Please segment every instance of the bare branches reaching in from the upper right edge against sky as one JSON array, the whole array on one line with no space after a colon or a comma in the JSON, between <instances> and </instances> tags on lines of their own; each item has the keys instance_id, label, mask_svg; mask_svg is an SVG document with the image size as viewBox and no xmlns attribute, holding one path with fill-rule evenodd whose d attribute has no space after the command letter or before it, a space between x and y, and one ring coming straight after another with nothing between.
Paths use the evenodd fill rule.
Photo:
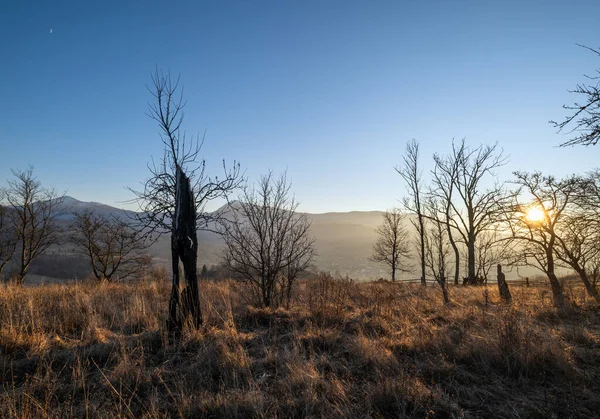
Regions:
<instances>
[{"instance_id":1,"label":"bare branches reaching in from the upper right edge against sky","mask_svg":"<svg viewBox=\"0 0 600 419\"><path fill-rule=\"evenodd\" d=\"M600 56L600 50L580 45ZM583 96L584 102L575 102L573 105L563 105L563 108L572 111L562 122L550 121L558 131L572 126L569 134L577 132L574 138L561 144L561 147L571 145L596 145L600 140L600 69L595 76L585 76L588 83L578 84L571 93Z\"/></svg>"}]
</instances>

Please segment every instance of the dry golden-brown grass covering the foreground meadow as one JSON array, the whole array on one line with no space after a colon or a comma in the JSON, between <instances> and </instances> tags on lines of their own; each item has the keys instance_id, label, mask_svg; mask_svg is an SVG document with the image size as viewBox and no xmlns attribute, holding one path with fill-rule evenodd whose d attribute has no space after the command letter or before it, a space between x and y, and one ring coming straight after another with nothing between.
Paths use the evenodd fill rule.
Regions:
<instances>
[{"instance_id":1,"label":"dry golden-brown grass covering the foreground meadow","mask_svg":"<svg viewBox=\"0 0 600 419\"><path fill-rule=\"evenodd\" d=\"M304 282L290 310L201 286L167 345L169 284L0 288L0 417L599 417L600 310L583 290ZM486 302L487 300L487 302Z\"/></svg>"}]
</instances>

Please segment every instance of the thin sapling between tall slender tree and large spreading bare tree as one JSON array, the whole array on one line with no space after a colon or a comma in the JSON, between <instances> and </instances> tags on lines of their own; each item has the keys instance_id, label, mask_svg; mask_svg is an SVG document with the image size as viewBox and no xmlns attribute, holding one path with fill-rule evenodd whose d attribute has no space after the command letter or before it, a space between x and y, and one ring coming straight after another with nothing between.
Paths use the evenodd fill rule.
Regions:
<instances>
[{"instance_id":1,"label":"thin sapling between tall slender tree and large spreading bare tree","mask_svg":"<svg viewBox=\"0 0 600 419\"><path fill-rule=\"evenodd\" d=\"M444 303L450 303L447 289L450 247L446 229L446 204L439 198L429 197L427 215L430 228L425 235L425 263L429 273L442 289Z\"/></svg>"}]
</instances>

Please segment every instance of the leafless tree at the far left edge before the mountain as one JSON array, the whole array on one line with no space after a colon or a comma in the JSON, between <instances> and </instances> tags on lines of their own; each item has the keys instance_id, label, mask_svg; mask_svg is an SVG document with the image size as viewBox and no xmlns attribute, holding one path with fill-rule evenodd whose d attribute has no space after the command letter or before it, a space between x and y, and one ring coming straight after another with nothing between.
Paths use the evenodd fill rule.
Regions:
<instances>
[{"instance_id":1,"label":"leafless tree at the far left edge before the mountain","mask_svg":"<svg viewBox=\"0 0 600 419\"><path fill-rule=\"evenodd\" d=\"M51 245L57 243L64 195L46 189L33 174L33 167L25 171L12 170L14 179L5 189L10 221L17 231L18 266L14 276L22 284L31 263Z\"/></svg>"}]
</instances>

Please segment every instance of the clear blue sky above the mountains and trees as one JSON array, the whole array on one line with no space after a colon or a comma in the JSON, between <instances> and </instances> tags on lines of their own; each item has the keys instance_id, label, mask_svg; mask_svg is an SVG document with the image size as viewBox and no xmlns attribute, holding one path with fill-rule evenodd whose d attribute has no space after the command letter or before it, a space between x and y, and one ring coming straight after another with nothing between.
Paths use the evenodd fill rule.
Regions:
<instances>
[{"instance_id":1,"label":"clear blue sky above the mountains and trees","mask_svg":"<svg viewBox=\"0 0 600 419\"><path fill-rule=\"evenodd\" d=\"M174 3L174 4L172 4ZM34 165L46 186L121 203L159 158L146 90L181 74L188 133L210 172L288 171L301 210L383 210L452 138L499 145L499 171L598 166L557 148L567 92L600 60L598 1L0 2L0 183ZM52 29L52 32L50 30Z\"/></svg>"}]
</instances>

